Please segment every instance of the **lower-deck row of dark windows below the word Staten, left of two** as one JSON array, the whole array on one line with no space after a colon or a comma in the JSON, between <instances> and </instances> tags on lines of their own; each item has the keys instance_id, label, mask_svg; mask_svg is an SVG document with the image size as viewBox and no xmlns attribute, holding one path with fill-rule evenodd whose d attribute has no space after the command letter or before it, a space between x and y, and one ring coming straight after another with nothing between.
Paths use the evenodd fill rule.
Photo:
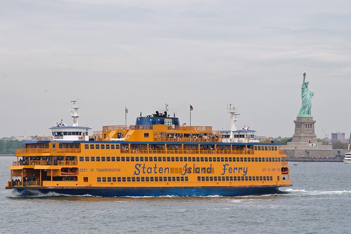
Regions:
<instances>
[{"instance_id":1,"label":"lower-deck row of dark windows below the word Staten, left of two","mask_svg":"<svg viewBox=\"0 0 351 234\"><path fill-rule=\"evenodd\" d=\"M97 177L98 182L171 182L189 181L188 176Z\"/></svg>"}]
</instances>

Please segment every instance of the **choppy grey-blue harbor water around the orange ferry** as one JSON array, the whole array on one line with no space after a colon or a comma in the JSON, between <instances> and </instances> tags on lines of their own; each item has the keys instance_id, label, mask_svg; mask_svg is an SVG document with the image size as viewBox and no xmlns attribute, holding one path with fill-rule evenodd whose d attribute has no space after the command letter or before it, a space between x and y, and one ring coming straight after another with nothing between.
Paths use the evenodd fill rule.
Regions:
<instances>
[{"instance_id":1,"label":"choppy grey-blue harbor water around the orange ferry","mask_svg":"<svg viewBox=\"0 0 351 234\"><path fill-rule=\"evenodd\" d=\"M0 233L351 233L351 165L298 162L293 187L239 197L19 197L5 190L14 157L0 157Z\"/></svg>"}]
</instances>

